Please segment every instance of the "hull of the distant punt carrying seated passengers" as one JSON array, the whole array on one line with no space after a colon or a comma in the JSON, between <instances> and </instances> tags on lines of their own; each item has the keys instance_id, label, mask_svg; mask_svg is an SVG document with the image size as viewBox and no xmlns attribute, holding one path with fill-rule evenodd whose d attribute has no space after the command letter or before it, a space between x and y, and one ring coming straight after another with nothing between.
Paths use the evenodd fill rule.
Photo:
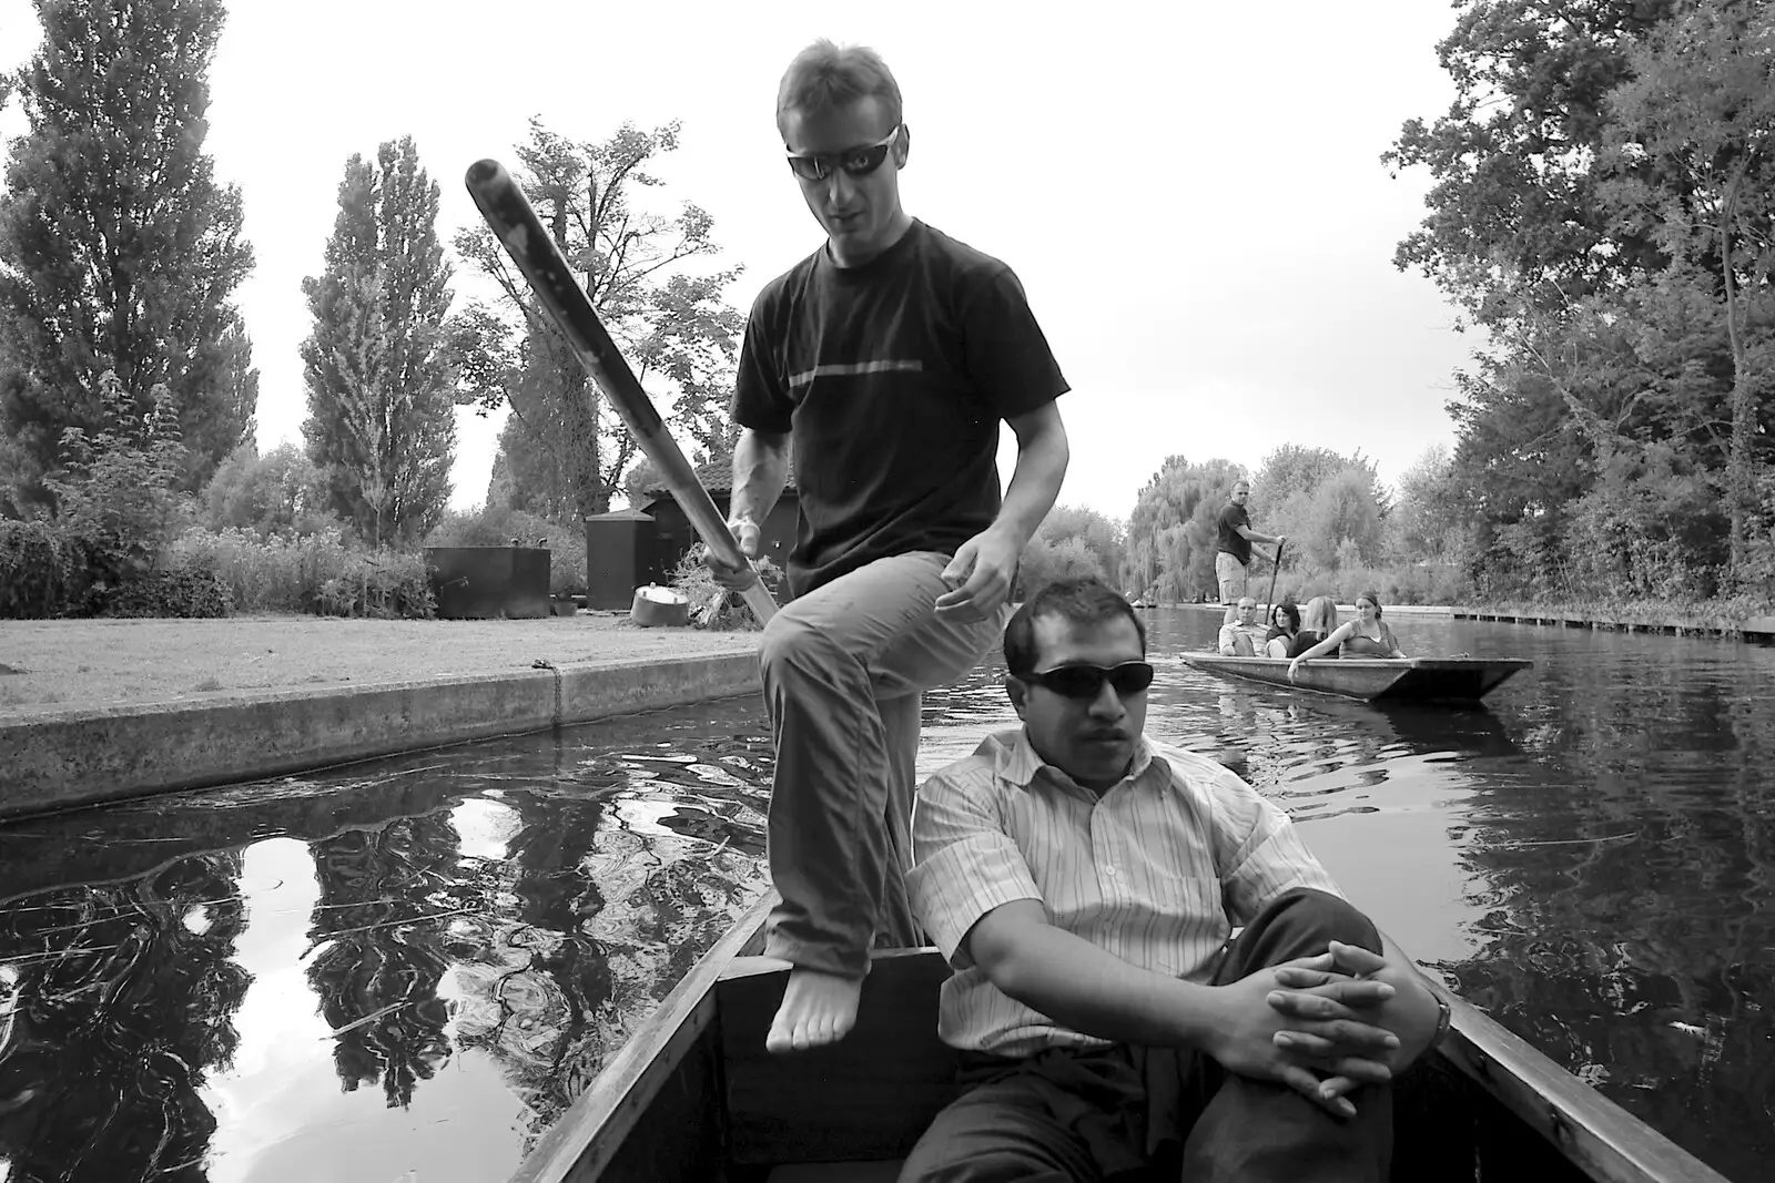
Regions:
<instances>
[{"instance_id":1,"label":"hull of the distant punt carrying seated passengers","mask_svg":"<svg viewBox=\"0 0 1775 1183\"><path fill-rule=\"evenodd\" d=\"M1337 693L1372 702L1477 702L1518 670L1519 658L1314 658L1289 681L1287 658L1227 658L1186 653L1184 662L1221 678L1244 678L1292 690Z\"/></svg>"}]
</instances>

